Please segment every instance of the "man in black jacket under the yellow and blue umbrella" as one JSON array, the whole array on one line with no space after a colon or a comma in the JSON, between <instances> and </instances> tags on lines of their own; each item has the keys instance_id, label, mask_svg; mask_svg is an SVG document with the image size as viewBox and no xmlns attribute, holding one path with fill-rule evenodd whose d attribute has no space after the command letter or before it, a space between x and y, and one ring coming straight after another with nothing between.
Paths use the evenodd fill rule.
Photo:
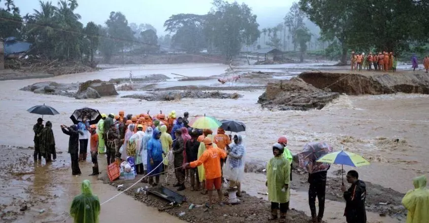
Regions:
<instances>
[{"instance_id":1,"label":"man in black jacket under the yellow and blue umbrella","mask_svg":"<svg viewBox=\"0 0 429 223\"><path fill-rule=\"evenodd\" d=\"M367 213L365 210L365 200L367 197L367 187L365 182L359 180L359 174L356 170L347 172L347 182L351 186L346 190L345 185L341 186L341 191L344 192L344 199L346 200L346 208L344 216L346 216L347 223L366 223Z\"/></svg>"}]
</instances>

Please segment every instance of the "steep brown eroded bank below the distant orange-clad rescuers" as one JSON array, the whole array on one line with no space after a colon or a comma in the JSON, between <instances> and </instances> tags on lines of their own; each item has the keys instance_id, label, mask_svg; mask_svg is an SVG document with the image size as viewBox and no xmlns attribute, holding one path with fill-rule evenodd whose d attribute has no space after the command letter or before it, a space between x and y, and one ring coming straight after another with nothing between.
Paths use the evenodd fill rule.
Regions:
<instances>
[{"instance_id":1,"label":"steep brown eroded bank below the distant orange-clad rescuers","mask_svg":"<svg viewBox=\"0 0 429 223\"><path fill-rule=\"evenodd\" d=\"M316 88L350 95L391 94L397 92L429 94L427 73L359 73L303 72L298 77Z\"/></svg>"}]
</instances>

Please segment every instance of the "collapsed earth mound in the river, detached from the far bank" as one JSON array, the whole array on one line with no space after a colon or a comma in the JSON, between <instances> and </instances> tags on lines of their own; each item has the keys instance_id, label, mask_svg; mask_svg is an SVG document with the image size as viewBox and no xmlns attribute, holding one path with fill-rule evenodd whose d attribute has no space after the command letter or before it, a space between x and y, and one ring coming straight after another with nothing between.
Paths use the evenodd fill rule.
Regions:
<instances>
[{"instance_id":1,"label":"collapsed earth mound in the river, detached from the far bank","mask_svg":"<svg viewBox=\"0 0 429 223\"><path fill-rule=\"evenodd\" d=\"M320 90L300 78L270 82L267 91L259 96L262 107L280 110L321 109L339 97L339 93Z\"/></svg>"}]
</instances>

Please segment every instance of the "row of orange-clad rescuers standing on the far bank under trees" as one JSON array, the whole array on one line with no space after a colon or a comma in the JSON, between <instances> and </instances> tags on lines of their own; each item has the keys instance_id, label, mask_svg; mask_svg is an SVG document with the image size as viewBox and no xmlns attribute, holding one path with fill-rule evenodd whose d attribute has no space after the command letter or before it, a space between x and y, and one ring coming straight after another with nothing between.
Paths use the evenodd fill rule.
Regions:
<instances>
[{"instance_id":1,"label":"row of orange-clad rescuers standing on the far bank under trees","mask_svg":"<svg viewBox=\"0 0 429 223\"><path fill-rule=\"evenodd\" d=\"M396 55L393 55L392 52L380 52L380 53L372 53L370 52L368 55L365 53L356 54L354 51L351 52L350 56L351 61L351 70L362 70L362 66L366 70L374 70L375 71L396 71L396 67L398 65L398 58Z\"/></svg>"}]
</instances>

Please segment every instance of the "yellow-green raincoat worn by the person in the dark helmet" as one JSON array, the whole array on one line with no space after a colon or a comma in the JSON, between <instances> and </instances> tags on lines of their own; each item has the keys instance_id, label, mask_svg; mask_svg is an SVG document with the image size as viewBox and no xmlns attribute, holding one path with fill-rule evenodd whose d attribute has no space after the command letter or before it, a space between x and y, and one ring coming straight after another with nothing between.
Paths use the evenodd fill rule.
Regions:
<instances>
[{"instance_id":1,"label":"yellow-green raincoat worn by the person in the dark helmet","mask_svg":"<svg viewBox=\"0 0 429 223\"><path fill-rule=\"evenodd\" d=\"M268 200L275 203L289 201L290 189L283 190L290 181L290 163L283 155L273 157L267 164Z\"/></svg>"}]
</instances>

